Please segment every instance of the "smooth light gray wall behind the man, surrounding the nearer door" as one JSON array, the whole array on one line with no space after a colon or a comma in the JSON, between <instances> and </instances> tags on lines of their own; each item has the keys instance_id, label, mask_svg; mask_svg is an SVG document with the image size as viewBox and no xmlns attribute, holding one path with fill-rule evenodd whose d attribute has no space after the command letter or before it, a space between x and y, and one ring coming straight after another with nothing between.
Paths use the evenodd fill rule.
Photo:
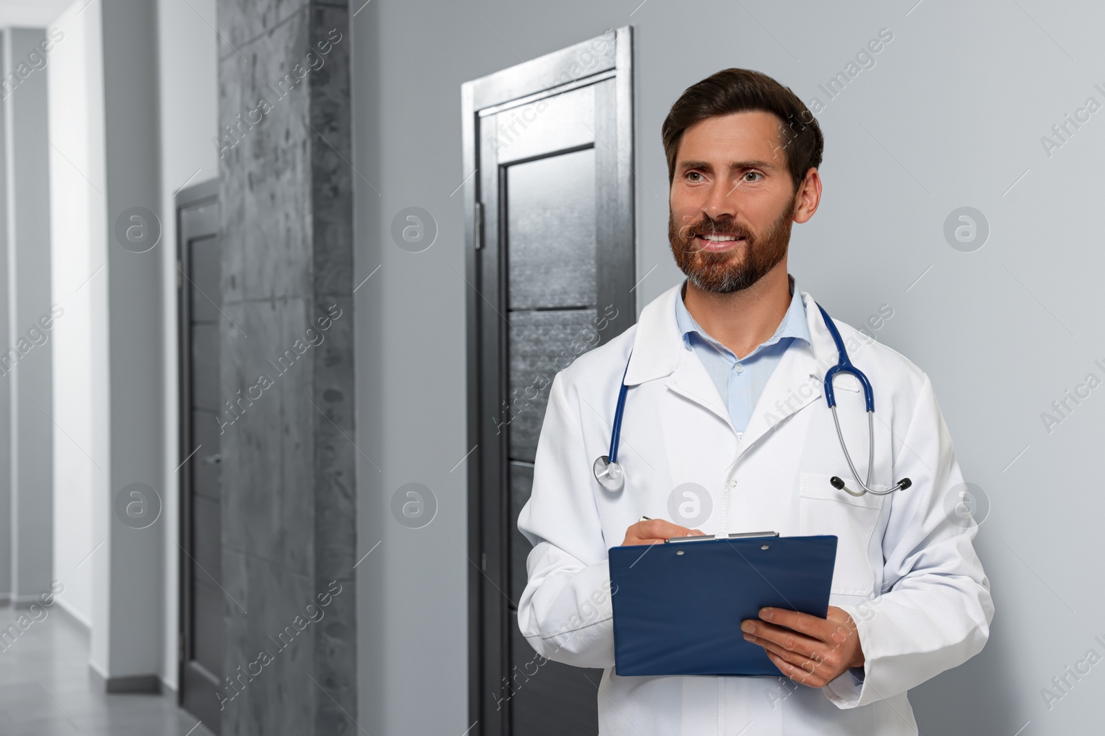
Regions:
<instances>
[{"instance_id":1,"label":"smooth light gray wall behind the man, surrounding the nearer door","mask_svg":"<svg viewBox=\"0 0 1105 736\"><path fill-rule=\"evenodd\" d=\"M357 3L359 4L359 2ZM726 66L775 75L825 103L821 210L796 228L791 271L839 319L874 331L932 376L967 479L990 504L978 550L993 586L990 644L917 689L922 732L1062 734L1097 723L1105 674L1041 689L1105 633L1092 573L1105 552L1095 488L1105 419L1096 390L1060 425L1041 413L1095 373L1094 308L1105 256L1095 217L1105 111L1061 148L1041 137L1105 75L1090 2L838 3L579 0L372 2L352 19L357 253L358 657L369 733L461 733L466 711L465 322L460 84L601 33L634 26L639 307L676 282L665 237L660 125L684 87ZM634 11L634 8L636 10ZM818 85L881 29L894 38L834 99ZM520 57L520 58L519 58ZM1103 118L1103 119L1097 119ZM429 250L391 239L421 206ZM945 239L960 206L990 225L981 249ZM924 276L923 276L924 275ZM919 280L918 277L920 277ZM876 388L877 392L877 388ZM1084 393L1084 392L1083 392ZM1101 396L1098 396L1101 394ZM834 441L827 437L825 441ZM379 467L379 471L377 468ZM394 491L429 486L434 521L406 529ZM1103 637L1105 639L1105 637ZM1096 668L1095 668L1096 669ZM417 683L417 686L412 686ZM1062 694L1056 691L1056 694ZM427 707L427 703L434 707Z\"/></svg>"}]
</instances>

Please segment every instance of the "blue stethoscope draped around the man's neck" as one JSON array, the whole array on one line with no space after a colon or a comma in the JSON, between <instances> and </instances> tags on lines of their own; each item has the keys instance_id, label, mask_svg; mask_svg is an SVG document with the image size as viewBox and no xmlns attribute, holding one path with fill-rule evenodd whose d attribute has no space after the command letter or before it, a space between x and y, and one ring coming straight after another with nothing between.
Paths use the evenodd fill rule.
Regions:
<instances>
[{"instance_id":1,"label":"blue stethoscope draped around the man's neck","mask_svg":"<svg viewBox=\"0 0 1105 736\"><path fill-rule=\"evenodd\" d=\"M840 449L844 452L844 459L848 461L848 468L852 471L852 477L856 479L860 483L860 488L863 489L859 492L853 491L844 481L838 476L833 476L829 479L829 483L836 490L843 490L852 495L863 495L864 493L874 493L875 495L886 495L893 493L894 491L909 488L913 486L913 481L908 478L903 478L893 487L886 489L885 491L875 490L871 484L871 472L875 466L875 394L871 388L871 381L864 375L863 371L852 365L851 359L848 356L848 350L844 348L844 340L840 337L840 331L836 326L829 318L829 312L827 312L821 305L818 305L818 309L821 311L821 317L824 319L825 327L829 329L829 334L832 335L832 340L836 343L836 352L839 358L836 364L831 369L825 371L824 377L824 392L825 392L825 403L829 404L829 408L832 409L832 420L836 425L836 438L840 439ZM633 358L633 353L630 352L630 359ZM621 437L621 423L622 415L625 413L625 394L629 392L629 386L625 385L625 374L629 373L629 361L625 361L625 371L622 373L621 388L618 391L618 407L614 409L614 425L610 433L610 455L603 455L594 460L594 480L599 481L599 484L608 491L620 491L625 486L625 471L622 469L621 465L618 462L618 440ZM836 396L833 394L832 380L838 373L850 373L860 382L863 386L863 399L867 407L867 480L866 482L860 480L860 473L855 471L855 463L852 462L852 456L848 451L848 445L844 442L844 433L840 428L840 418L836 416Z\"/></svg>"}]
</instances>

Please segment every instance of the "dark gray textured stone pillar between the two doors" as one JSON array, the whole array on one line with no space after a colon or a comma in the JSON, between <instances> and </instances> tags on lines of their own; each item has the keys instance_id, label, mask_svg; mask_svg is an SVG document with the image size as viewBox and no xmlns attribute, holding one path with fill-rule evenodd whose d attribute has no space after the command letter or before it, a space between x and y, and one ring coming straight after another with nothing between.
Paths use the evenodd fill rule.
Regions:
<instances>
[{"instance_id":1,"label":"dark gray textured stone pillar between the two doors","mask_svg":"<svg viewBox=\"0 0 1105 736\"><path fill-rule=\"evenodd\" d=\"M272 659L225 704L222 728L352 734L359 450L348 9L219 0L218 26L229 318L220 322L220 399L250 398L238 416L222 415L233 418L221 437L225 674L241 676L236 668L262 652ZM308 605L323 616L301 629Z\"/></svg>"}]
</instances>

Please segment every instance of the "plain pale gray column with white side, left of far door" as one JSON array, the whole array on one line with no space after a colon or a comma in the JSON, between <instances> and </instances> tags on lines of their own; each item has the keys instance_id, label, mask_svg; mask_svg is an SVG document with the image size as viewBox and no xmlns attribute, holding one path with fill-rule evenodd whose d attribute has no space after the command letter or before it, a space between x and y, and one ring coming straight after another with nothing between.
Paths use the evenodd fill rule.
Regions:
<instances>
[{"instance_id":1,"label":"plain pale gray column with white side, left of far door","mask_svg":"<svg viewBox=\"0 0 1105 736\"><path fill-rule=\"evenodd\" d=\"M107 213L104 278L94 279L106 290L106 342L95 359L102 370L94 381L107 401L95 409L94 422L105 429L108 466L106 487L94 504L94 535L106 544L93 555L92 666L105 678L108 692L135 692L159 687L165 514L141 520L124 510L136 503L164 511L165 285L159 248L171 246L157 237L165 217L156 4L103 0L86 12L94 9L102 13Z\"/></svg>"}]
</instances>

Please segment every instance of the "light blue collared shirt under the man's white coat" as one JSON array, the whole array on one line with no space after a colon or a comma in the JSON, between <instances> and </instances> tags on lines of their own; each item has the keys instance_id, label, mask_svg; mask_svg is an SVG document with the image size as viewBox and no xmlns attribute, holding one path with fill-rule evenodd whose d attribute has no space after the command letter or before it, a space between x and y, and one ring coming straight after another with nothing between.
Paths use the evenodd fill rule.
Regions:
<instances>
[{"instance_id":1,"label":"light blue collared shirt under the man's white coat","mask_svg":"<svg viewBox=\"0 0 1105 736\"><path fill-rule=\"evenodd\" d=\"M683 344L687 350L693 350L706 367L706 373L713 378L717 393L722 396L722 403L729 409L733 428L738 435L743 435L748 426L756 402L764 393L764 386L767 385L771 373L782 360L782 354L799 340L804 340L807 345L810 344L806 305L802 303L801 294L794 288L793 277L788 276L788 278L790 307L782 316L778 329L766 342L740 360L698 326L683 303L682 296L675 300L675 322L683 335ZM685 289L686 282L684 282Z\"/></svg>"}]
</instances>

